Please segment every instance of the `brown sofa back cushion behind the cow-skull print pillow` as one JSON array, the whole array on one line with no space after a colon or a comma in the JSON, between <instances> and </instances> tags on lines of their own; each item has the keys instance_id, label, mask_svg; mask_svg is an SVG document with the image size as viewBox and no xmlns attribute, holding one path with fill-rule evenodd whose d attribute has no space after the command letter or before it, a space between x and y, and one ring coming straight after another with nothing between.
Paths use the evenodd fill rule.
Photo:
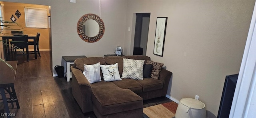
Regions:
<instances>
[{"instance_id":1,"label":"brown sofa back cushion behind the cow-skull print pillow","mask_svg":"<svg viewBox=\"0 0 256 118\"><path fill-rule=\"evenodd\" d=\"M122 57L122 56L106 56L106 57L104 57L107 65L118 63L118 69L119 69L120 76L122 76L122 73L123 73L123 58L124 57Z\"/></svg>"}]
</instances>

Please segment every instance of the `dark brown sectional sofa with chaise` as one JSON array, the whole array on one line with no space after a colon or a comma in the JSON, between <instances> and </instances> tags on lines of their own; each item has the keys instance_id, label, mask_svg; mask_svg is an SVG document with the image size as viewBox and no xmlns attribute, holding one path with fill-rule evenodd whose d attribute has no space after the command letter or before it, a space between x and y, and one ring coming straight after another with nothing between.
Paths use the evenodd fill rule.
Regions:
<instances>
[{"instance_id":1,"label":"dark brown sectional sofa with chaise","mask_svg":"<svg viewBox=\"0 0 256 118\"><path fill-rule=\"evenodd\" d=\"M109 65L118 63L119 74L123 72L123 58L150 60L148 56L108 56L76 59L72 70L72 94L82 112L91 112L98 118L142 118L143 100L166 96L172 72L162 68L158 80L122 79L112 82L90 84L82 71L84 64ZM101 72L101 79L103 79Z\"/></svg>"}]
</instances>

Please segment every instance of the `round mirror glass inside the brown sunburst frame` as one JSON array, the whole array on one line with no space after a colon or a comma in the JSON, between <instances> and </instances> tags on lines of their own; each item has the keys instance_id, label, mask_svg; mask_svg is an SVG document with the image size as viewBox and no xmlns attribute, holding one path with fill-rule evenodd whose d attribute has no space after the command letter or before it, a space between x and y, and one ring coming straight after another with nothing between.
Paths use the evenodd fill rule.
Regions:
<instances>
[{"instance_id":1,"label":"round mirror glass inside the brown sunburst frame","mask_svg":"<svg viewBox=\"0 0 256 118\"><path fill-rule=\"evenodd\" d=\"M83 30L86 36L94 37L99 33L100 26L95 20L89 19L84 22Z\"/></svg>"}]
</instances>

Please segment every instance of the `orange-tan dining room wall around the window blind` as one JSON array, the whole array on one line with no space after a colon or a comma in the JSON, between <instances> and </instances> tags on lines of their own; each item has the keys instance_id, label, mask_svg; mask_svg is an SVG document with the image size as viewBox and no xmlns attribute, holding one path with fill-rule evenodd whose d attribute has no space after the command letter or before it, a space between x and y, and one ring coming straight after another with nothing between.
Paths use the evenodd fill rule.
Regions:
<instances>
[{"instance_id":1,"label":"orange-tan dining room wall around the window blind","mask_svg":"<svg viewBox=\"0 0 256 118\"><path fill-rule=\"evenodd\" d=\"M39 42L39 48L40 51L45 51L49 50L49 32L48 29L40 29L40 28L26 28L26 23L25 23L25 12L24 12L24 7L34 7L34 8L46 8L48 13L49 13L49 7L48 6L43 6L43 5L36 5L36 4L21 4L21 3L14 3L14 2L1 2L4 4L4 20L10 21L10 18L12 15L17 19L16 23L20 25L12 27L13 29L20 29L23 28L22 31L24 34L33 34L36 35L37 32L40 33L40 42ZM19 10L21 16L20 18L17 18L15 15L16 10ZM50 16L50 14L48 14ZM7 34L10 34L11 31L7 31ZM29 49L34 49L33 46L29 46Z\"/></svg>"}]
</instances>

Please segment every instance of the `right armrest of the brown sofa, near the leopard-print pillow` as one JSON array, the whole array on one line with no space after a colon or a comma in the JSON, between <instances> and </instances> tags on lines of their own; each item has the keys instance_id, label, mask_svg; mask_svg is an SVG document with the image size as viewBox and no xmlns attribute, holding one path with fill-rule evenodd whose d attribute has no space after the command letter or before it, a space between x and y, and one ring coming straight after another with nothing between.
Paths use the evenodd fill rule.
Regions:
<instances>
[{"instance_id":1,"label":"right armrest of the brown sofa, near the leopard-print pillow","mask_svg":"<svg viewBox=\"0 0 256 118\"><path fill-rule=\"evenodd\" d=\"M170 78L172 77L172 72L163 69L160 71L160 76L159 76L159 80L161 80L163 82L163 90L162 90L162 94L165 96L168 90L168 86L169 86L169 82L170 82Z\"/></svg>"}]
</instances>

